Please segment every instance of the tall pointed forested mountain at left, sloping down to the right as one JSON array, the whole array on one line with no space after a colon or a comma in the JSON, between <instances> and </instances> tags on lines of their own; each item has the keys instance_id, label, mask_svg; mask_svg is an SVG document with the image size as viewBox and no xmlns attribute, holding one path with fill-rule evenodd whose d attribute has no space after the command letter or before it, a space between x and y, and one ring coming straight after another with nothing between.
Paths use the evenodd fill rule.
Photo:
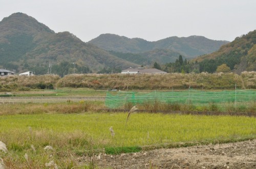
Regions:
<instances>
[{"instance_id":1,"label":"tall pointed forested mountain at left, sloping down to the right","mask_svg":"<svg viewBox=\"0 0 256 169\"><path fill-rule=\"evenodd\" d=\"M59 75L138 66L69 32L54 33L23 13L14 13L0 22L0 60L0 68Z\"/></svg>"}]
</instances>

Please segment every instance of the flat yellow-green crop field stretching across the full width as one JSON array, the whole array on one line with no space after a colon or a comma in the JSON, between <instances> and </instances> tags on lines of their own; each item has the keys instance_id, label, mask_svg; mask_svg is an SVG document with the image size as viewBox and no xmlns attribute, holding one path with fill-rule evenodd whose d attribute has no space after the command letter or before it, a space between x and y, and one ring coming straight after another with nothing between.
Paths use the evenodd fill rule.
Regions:
<instances>
[{"instance_id":1,"label":"flat yellow-green crop field stretching across the full width","mask_svg":"<svg viewBox=\"0 0 256 169\"><path fill-rule=\"evenodd\" d=\"M163 114L134 114L126 127L127 114L39 114L1 116L1 139L8 143L45 142L55 147L67 146L72 135L89 140L94 146L146 146L176 142L197 142L235 137L255 136L256 120L236 116L191 116ZM113 126L114 139L109 128ZM15 133L15 134L14 134ZM37 133L37 134L36 134ZM39 135L40 139L37 138ZM52 139L48 140L49 135ZM45 139L41 139L45 137ZM114 145L113 145L114 144Z\"/></svg>"}]
</instances>

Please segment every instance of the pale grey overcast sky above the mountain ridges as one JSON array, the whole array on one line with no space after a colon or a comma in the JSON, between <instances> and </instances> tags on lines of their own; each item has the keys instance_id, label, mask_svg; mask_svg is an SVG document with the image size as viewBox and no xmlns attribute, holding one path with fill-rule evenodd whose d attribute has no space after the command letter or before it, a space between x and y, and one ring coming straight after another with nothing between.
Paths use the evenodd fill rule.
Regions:
<instances>
[{"instance_id":1,"label":"pale grey overcast sky above the mountain ridges","mask_svg":"<svg viewBox=\"0 0 256 169\"><path fill-rule=\"evenodd\" d=\"M84 42L105 33L233 41L256 29L256 0L0 0L0 20L16 12Z\"/></svg>"}]
</instances>

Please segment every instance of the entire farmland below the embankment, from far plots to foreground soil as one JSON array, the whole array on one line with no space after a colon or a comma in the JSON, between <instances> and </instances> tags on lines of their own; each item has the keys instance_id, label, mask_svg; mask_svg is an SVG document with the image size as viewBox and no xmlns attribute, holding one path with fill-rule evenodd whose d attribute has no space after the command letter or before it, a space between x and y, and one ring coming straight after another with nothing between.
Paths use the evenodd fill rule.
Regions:
<instances>
[{"instance_id":1,"label":"entire farmland below the embankment, from far plots to foreground soil","mask_svg":"<svg viewBox=\"0 0 256 169\"><path fill-rule=\"evenodd\" d=\"M136 92L156 96L156 92ZM228 102L193 103L204 92L219 98L226 94ZM8 149L4 153L0 148L0 158L8 168L256 167L255 90L237 95L230 90L162 91L159 100L133 103L138 101L134 93L128 93L129 102L118 103L122 112L108 112L111 101L105 101L106 91L62 88L0 93L9 95L0 97L0 141ZM161 102L164 94L175 97ZM210 95L204 100L215 99ZM175 98L181 102L172 102ZM134 104L139 112L131 114L125 125ZM161 111L175 114L156 113ZM204 113L189 115L192 111ZM204 116L219 111L227 114ZM251 117L236 116L240 112L250 112Z\"/></svg>"}]
</instances>

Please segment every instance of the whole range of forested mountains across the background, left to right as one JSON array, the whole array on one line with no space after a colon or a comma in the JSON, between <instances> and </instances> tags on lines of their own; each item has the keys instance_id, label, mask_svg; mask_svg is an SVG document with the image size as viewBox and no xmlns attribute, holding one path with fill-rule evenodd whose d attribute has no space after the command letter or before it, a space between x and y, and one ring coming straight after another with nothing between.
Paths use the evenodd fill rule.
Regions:
<instances>
[{"instance_id":1,"label":"whole range of forested mountains across the background, left to right","mask_svg":"<svg viewBox=\"0 0 256 169\"><path fill-rule=\"evenodd\" d=\"M112 34L85 43L69 32L55 33L33 17L14 13L0 22L0 68L61 76L116 73L141 65L184 73L212 73L217 68L218 72L256 71L256 30L226 43L200 36L148 42ZM212 53L188 60L209 52Z\"/></svg>"}]
</instances>

